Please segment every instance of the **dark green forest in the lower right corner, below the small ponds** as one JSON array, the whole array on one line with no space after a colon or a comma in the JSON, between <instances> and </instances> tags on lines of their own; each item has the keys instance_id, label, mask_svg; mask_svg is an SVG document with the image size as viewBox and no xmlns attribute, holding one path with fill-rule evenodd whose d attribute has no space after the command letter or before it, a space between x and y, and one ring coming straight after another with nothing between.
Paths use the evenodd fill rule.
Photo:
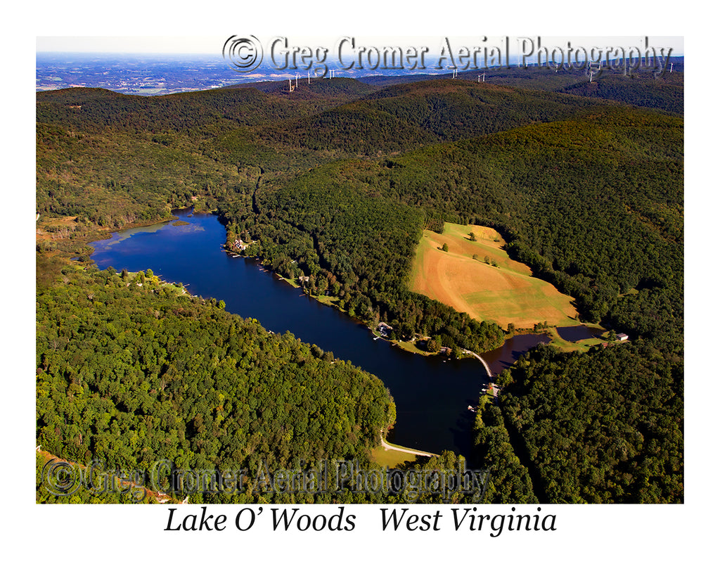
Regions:
<instances>
[{"instance_id":1,"label":"dark green forest in the lower right corner, below the small ponds","mask_svg":"<svg viewBox=\"0 0 720 576\"><path fill-rule=\"evenodd\" d=\"M503 380L542 501L683 500L683 372L652 346L539 349Z\"/></svg>"}]
</instances>

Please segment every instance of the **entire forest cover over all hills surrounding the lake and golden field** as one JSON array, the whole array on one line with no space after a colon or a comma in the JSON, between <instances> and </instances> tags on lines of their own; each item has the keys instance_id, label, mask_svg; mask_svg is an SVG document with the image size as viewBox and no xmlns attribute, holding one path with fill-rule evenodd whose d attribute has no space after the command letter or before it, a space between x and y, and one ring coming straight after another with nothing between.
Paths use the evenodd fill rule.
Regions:
<instances>
[{"instance_id":1,"label":"entire forest cover over all hills surrounding the lake and golden field","mask_svg":"<svg viewBox=\"0 0 720 576\"><path fill-rule=\"evenodd\" d=\"M471 456L495 474L487 498L682 501L682 77L608 74L588 86L560 76L508 71L495 84L384 87L338 78L292 93L267 83L151 98L38 94L42 444L68 459L128 465L166 453L193 466L252 465L258 454L284 465L366 458L388 418L377 379L217 303L179 305L188 299L169 288L126 287L113 274L60 274L58 258L87 259L84 240L103 228L161 220L179 206L212 211L228 243L253 242L246 255L283 276L307 276L307 292L333 297L348 314L390 323L400 338L420 333L482 352L506 327L406 287L423 228L473 223L500 230L510 256L575 298L581 320L631 336L585 355L539 351L500 375L500 404L481 402ZM118 308L105 310L109 302ZM243 335L238 343L231 330ZM173 346L179 334L187 349ZM237 368L245 354L249 372L236 382L220 359ZM194 361L207 363L202 381L189 377ZM354 392L330 401L323 380L333 377L356 382ZM120 384L126 378L132 393ZM271 387L284 405L264 414L251 404ZM364 398L364 388L377 392ZM237 420L218 423L218 406ZM312 441L296 441L295 420L312 410L333 418L312 420L320 426ZM144 432L133 436L139 423Z\"/></svg>"}]
</instances>

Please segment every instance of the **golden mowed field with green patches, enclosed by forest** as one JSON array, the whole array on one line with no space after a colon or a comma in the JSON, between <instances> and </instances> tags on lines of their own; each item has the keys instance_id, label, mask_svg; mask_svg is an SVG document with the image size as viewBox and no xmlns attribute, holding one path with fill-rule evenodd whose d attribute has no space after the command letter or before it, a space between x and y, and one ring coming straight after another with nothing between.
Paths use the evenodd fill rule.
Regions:
<instances>
[{"instance_id":1,"label":"golden mowed field with green patches, enclosed by forest","mask_svg":"<svg viewBox=\"0 0 720 576\"><path fill-rule=\"evenodd\" d=\"M477 241L469 239L473 232ZM443 244L449 251L441 250ZM531 276L525 264L503 249L492 228L445 224L443 234L423 231L410 275L410 289L502 328L533 328L537 323L577 324L572 298ZM472 256L476 254L477 259ZM498 266L485 264L485 257Z\"/></svg>"}]
</instances>

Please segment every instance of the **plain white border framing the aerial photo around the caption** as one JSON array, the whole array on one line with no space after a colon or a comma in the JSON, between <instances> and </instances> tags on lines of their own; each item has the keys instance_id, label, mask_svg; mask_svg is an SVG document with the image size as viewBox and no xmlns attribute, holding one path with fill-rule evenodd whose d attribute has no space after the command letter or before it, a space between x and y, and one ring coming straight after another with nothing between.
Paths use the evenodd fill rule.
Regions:
<instances>
[{"instance_id":1,"label":"plain white border framing the aerial photo around the caption","mask_svg":"<svg viewBox=\"0 0 720 576\"><path fill-rule=\"evenodd\" d=\"M260 3L258 3L260 4ZM235 571L293 570L297 573L330 571L358 573L366 570L417 571L464 569L474 572L524 570L570 574L608 571L660 574L685 572L687 564L709 559L710 536L714 535L714 472L716 470L710 410L714 408L717 381L711 372L709 329L718 319L715 290L703 290L708 271L714 274L714 258L705 259L704 246L711 246L708 231L714 231L717 214L716 184L708 170L714 140L714 94L710 63L714 46L710 30L690 22L688 6L663 3L600 5L585 8L562 4L507 4L488 6L429 4L395 6L373 1L338 6L325 1L312 5L295 3L278 7L262 3L248 8L236 3L186 6L177 3L148 4L131 1L107 4L86 0L33 4L24 14L8 15L10 34L3 39L6 62L4 110L9 130L3 148L10 184L6 197L16 222L6 225L4 246L9 271L3 282L7 321L3 343L4 360L12 366L6 381L4 404L5 464L4 510L10 540L6 554L59 573L98 570L115 574L128 570ZM265 5L266 4L266 5ZM32 10L32 14L30 11ZM302 24L301 24L302 23ZM38 35L217 35L224 38L251 30L256 35L292 34L302 25L307 34L376 36L436 35L577 35L634 36L684 35L686 55L686 269L688 303L686 315L686 441L684 505L666 506L543 506L557 513L558 531L491 539L452 530L423 534L382 534L377 508L358 510L358 528L351 533L310 538L308 534L284 536L271 531L239 534L175 534L163 532L163 506L40 506L35 505L32 486L35 437L34 412L34 219L35 37ZM34 221L34 220L32 220ZM714 277L711 276L711 287ZM708 309L708 303L710 309ZM703 307L702 311L700 307ZM703 318L702 322L698 319ZM705 327L705 328L703 328ZM707 342L707 346L702 343ZM709 354L708 354L709 353ZM702 356L701 356L702 354ZM22 359L18 361L17 359ZM19 410L17 406L19 405ZM14 471L17 473L15 477ZM30 476L30 477L29 477ZM508 508L493 507L492 513ZM312 508L315 513L315 508ZM421 513L427 513L425 508ZM715 562L709 561L708 566ZM8 562L12 565L12 560Z\"/></svg>"}]
</instances>

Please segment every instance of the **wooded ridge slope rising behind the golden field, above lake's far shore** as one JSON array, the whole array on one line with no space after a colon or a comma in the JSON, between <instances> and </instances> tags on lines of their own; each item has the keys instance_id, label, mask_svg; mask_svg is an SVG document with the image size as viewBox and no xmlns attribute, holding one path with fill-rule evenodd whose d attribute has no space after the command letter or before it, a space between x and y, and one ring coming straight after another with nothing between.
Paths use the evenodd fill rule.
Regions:
<instances>
[{"instance_id":1,"label":"wooded ridge slope rising behind the golden field, above lake's far shore","mask_svg":"<svg viewBox=\"0 0 720 576\"><path fill-rule=\"evenodd\" d=\"M682 121L594 112L392 160L329 163L258 189L254 210L237 199L220 210L231 235L259 240L252 253L281 274L308 274L311 290L329 289L348 312L397 323L408 337L443 333L444 345L478 351L494 343L461 341L467 319L428 310L405 287L420 230L454 221L500 229L510 255L574 296L585 320L611 319L618 331L677 350ZM449 323L456 330L441 328Z\"/></svg>"}]
</instances>

